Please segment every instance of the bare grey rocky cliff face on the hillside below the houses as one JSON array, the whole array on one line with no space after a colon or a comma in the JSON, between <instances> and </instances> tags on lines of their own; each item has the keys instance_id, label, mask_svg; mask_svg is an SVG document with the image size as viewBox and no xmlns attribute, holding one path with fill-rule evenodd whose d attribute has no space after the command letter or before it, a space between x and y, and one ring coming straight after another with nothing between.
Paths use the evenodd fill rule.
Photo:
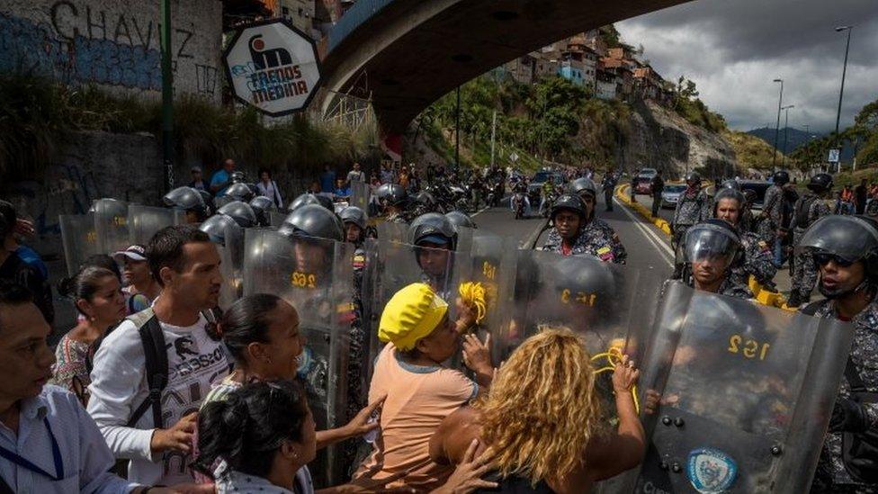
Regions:
<instances>
[{"instance_id":1,"label":"bare grey rocky cliff face on the hillside below the houses","mask_svg":"<svg viewBox=\"0 0 878 494\"><path fill-rule=\"evenodd\" d=\"M735 175L735 151L721 135L695 126L658 104L632 105L629 131L616 161L629 172L650 166L680 177L703 168L708 176Z\"/></svg>"}]
</instances>

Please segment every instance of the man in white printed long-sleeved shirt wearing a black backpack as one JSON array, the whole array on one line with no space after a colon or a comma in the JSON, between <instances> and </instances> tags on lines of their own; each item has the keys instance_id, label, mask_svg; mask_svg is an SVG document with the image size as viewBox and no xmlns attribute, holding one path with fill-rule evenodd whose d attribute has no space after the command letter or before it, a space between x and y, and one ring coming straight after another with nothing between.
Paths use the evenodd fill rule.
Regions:
<instances>
[{"instance_id":1,"label":"man in white printed long-sleeved shirt wearing a black backpack","mask_svg":"<svg viewBox=\"0 0 878 494\"><path fill-rule=\"evenodd\" d=\"M174 485L193 481L188 465L195 412L211 384L229 370L204 315L217 305L222 276L211 239L190 226L160 230L149 242L147 257L162 294L151 309L123 321L103 340L94 355L88 413L115 457L130 459L130 481ZM140 334L150 324L164 339L167 362L159 409L148 400L147 350Z\"/></svg>"}]
</instances>

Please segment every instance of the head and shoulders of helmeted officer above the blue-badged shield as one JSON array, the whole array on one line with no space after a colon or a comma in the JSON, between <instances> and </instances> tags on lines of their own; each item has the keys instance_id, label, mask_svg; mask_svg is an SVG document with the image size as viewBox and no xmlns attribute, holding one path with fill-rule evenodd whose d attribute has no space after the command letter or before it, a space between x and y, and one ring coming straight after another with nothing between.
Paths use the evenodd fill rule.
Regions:
<instances>
[{"instance_id":1,"label":"head and shoulders of helmeted officer above the blue-badged shield","mask_svg":"<svg viewBox=\"0 0 878 494\"><path fill-rule=\"evenodd\" d=\"M695 290L739 299L752 299L753 292L736 283L731 266L740 252L738 232L726 220L712 219L686 230L684 243L685 283Z\"/></svg>"}]
</instances>

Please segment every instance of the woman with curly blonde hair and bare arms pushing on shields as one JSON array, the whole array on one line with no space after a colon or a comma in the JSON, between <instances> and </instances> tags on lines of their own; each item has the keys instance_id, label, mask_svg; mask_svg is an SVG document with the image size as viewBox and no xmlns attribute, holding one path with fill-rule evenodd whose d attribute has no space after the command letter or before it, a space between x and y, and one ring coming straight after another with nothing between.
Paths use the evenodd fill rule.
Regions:
<instances>
[{"instance_id":1,"label":"woman with curly blonde hair and bare arms pushing on shields","mask_svg":"<svg viewBox=\"0 0 878 494\"><path fill-rule=\"evenodd\" d=\"M611 432L592 369L582 339L569 329L528 338L497 371L486 395L443 420L430 440L431 458L460 463L479 439L496 455L501 492L588 492L594 482L634 468L646 451L632 397L640 372L627 355L615 365L619 424Z\"/></svg>"}]
</instances>

